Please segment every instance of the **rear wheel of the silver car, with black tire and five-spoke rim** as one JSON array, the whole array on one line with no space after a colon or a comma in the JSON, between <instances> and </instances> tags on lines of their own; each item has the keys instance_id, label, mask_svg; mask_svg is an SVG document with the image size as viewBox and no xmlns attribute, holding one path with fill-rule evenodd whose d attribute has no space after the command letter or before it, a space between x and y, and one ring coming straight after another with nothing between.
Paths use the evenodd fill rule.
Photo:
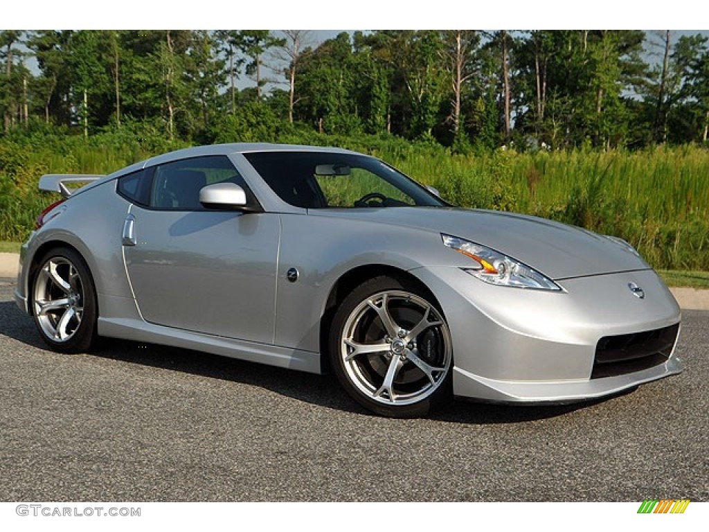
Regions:
<instances>
[{"instance_id":1,"label":"rear wheel of the silver car, with black tire and five-spoke rim","mask_svg":"<svg viewBox=\"0 0 709 532\"><path fill-rule=\"evenodd\" d=\"M49 250L32 281L31 305L40 336L52 350L83 353L96 340L96 291L89 267L70 248Z\"/></svg>"}]
</instances>

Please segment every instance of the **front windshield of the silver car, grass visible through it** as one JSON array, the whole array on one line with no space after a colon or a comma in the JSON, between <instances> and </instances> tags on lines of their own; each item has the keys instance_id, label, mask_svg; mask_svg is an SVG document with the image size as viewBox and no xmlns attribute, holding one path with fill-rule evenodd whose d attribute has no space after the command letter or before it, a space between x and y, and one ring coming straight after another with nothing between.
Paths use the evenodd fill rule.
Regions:
<instances>
[{"instance_id":1,"label":"front windshield of the silver car, grass visible through it","mask_svg":"<svg viewBox=\"0 0 709 532\"><path fill-rule=\"evenodd\" d=\"M304 209L446 205L425 187L367 155L257 152L244 157L282 200Z\"/></svg>"}]
</instances>

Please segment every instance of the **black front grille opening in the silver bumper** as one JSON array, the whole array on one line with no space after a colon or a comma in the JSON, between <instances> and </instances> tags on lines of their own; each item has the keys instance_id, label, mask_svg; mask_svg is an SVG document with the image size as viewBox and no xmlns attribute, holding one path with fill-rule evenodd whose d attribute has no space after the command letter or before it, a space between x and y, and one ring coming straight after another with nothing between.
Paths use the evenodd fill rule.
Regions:
<instances>
[{"instance_id":1,"label":"black front grille opening in the silver bumper","mask_svg":"<svg viewBox=\"0 0 709 532\"><path fill-rule=\"evenodd\" d=\"M664 364L672 353L679 323L640 333L604 336L596 345L591 379L614 377Z\"/></svg>"}]
</instances>

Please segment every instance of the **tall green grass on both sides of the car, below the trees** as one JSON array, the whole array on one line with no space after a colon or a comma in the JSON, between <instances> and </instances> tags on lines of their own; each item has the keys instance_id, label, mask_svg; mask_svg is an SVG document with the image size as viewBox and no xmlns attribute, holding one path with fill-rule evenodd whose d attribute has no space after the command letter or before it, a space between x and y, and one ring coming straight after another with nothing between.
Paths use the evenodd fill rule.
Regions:
<instances>
[{"instance_id":1,"label":"tall green grass on both sides of the car, below the trees","mask_svg":"<svg viewBox=\"0 0 709 532\"><path fill-rule=\"evenodd\" d=\"M625 238L657 268L709 270L709 150L686 145L640 152L451 155L396 138L311 135L289 142L371 153L463 207L551 218ZM110 173L183 145L96 135L0 141L0 240L23 240L56 198L40 194L47 172Z\"/></svg>"}]
</instances>

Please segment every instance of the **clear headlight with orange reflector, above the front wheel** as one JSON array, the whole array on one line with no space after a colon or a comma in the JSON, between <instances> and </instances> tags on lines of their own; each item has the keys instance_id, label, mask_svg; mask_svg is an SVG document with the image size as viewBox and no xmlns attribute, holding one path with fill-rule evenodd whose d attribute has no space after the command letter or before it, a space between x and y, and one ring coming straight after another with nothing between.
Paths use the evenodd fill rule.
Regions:
<instances>
[{"instance_id":1,"label":"clear headlight with orange reflector, above the front wheel","mask_svg":"<svg viewBox=\"0 0 709 532\"><path fill-rule=\"evenodd\" d=\"M561 290L552 279L512 257L457 236L441 234L441 237L445 245L473 261L464 270L481 281L503 287Z\"/></svg>"}]
</instances>

